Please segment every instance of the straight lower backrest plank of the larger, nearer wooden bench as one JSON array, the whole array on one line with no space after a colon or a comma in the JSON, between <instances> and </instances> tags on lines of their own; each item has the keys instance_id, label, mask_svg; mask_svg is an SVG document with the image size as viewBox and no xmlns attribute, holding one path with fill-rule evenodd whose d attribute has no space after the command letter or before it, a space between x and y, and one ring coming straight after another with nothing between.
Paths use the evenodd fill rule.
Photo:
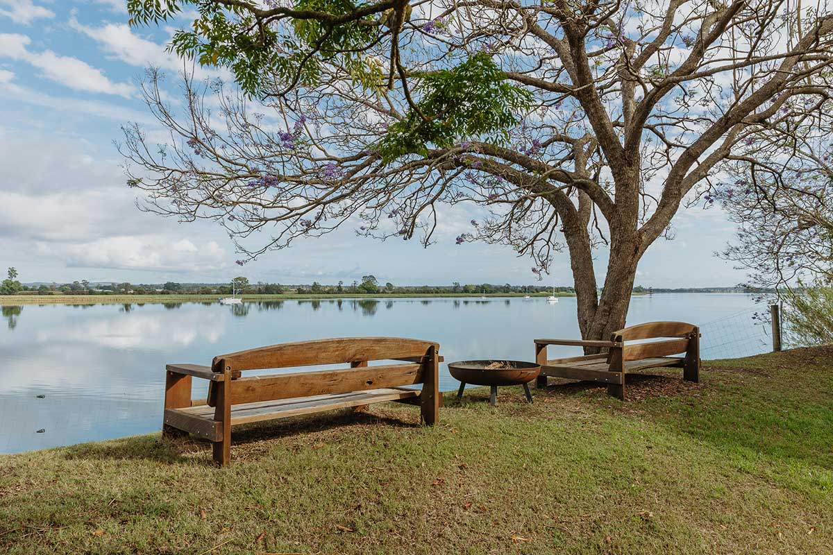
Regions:
<instances>
[{"instance_id":1,"label":"straight lower backrest plank of the larger, nearer wooden bench","mask_svg":"<svg viewBox=\"0 0 833 555\"><path fill-rule=\"evenodd\" d=\"M355 369L251 376L231 382L232 404L419 384L423 380L421 369L421 364L390 364Z\"/></svg>"}]
</instances>

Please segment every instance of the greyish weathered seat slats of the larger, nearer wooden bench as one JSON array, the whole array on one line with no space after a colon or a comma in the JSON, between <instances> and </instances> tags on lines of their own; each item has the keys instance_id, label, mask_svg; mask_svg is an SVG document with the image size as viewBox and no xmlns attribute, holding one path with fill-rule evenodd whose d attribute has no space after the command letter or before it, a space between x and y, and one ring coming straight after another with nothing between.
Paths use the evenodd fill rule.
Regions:
<instances>
[{"instance_id":1,"label":"greyish weathered seat slats of the larger, nearer wooden bench","mask_svg":"<svg viewBox=\"0 0 833 555\"><path fill-rule=\"evenodd\" d=\"M418 397L419 389L369 389L346 394L315 395L296 399L279 399L232 405L232 426L261 420L283 419L299 414L319 413L327 410L347 409L362 404L382 403ZM214 409L207 406L175 409L191 419L211 422Z\"/></svg>"}]
</instances>

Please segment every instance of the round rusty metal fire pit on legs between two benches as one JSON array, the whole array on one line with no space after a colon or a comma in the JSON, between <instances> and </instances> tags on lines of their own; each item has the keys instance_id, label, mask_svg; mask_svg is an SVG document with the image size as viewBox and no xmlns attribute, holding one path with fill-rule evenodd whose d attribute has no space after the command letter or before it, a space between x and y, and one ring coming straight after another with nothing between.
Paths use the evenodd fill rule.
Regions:
<instances>
[{"instance_id":1,"label":"round rusty metal fire pit on legs between two benches","mask_svg":"<svg viewBox=\"0 0 833 555\"><path fill-rule=\"evenodd\" d=\"M462 398L466 384L488 385L491 387L489 403L491 406L495 406L498 386L523 385L526 400L531 403L532 395L527 384L536 379L538 374L541 373L541 364L501 359L461 360L460 362L449 363L448 372L451 376L460 380L457 399Z\"/></svg>"}]
</instances>

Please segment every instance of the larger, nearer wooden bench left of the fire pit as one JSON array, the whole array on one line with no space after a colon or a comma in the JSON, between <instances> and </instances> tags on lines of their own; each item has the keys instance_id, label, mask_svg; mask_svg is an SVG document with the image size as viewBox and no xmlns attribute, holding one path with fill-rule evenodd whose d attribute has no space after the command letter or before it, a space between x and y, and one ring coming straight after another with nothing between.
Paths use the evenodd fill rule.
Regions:
<instances>
[{"instance_id":1,"label":"larger, nearer wooden bench left of the fire pit","mask_svg":"<svg viewBox=\"0 0 833 555\"><path fill-rule=\"evenodd\" d=\"M384 401L418 404L421 420L435 424L441 399L439 348L430 341L392 337L320 339L221 354L211 366L167 364L162 435L208 439L214 461L225 465L237 424ZM372 360L400 364L369 366ZM245 370L345 363L350 368L242 377ZM207 399L191 399L195 376L209 380ZM413 384L422 389L404 387Z\"/></svg>"}]
</instances>

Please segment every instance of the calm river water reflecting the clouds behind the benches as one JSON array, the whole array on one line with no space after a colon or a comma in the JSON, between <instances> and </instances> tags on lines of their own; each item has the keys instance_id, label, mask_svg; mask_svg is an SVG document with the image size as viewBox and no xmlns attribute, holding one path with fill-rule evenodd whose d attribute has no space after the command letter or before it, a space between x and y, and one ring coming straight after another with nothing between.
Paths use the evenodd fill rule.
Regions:
<instances>
[{"instance_id":1,"label":"calm river water reflecting the clouds behind the benches","mask_svg":"<svg viewBox=\"0 0 833 555\"><path fill-rule=\"evenodd\" d=\"M640 296L628 324L690 321L701 325L704 358L745 356L767 349L753 310L748 295ZM536 337L579 337L569 297L554 305L472 298L2 307L0 453L159 429L166 363L210 364L215 354L355 335L435 340L449 362L534 359ZM581 354L571 347L550 353ZM204 394L201 382L194 379L195 398ZM441 389L456 384L443 365Z\"/></svg>"}]
</instances>

